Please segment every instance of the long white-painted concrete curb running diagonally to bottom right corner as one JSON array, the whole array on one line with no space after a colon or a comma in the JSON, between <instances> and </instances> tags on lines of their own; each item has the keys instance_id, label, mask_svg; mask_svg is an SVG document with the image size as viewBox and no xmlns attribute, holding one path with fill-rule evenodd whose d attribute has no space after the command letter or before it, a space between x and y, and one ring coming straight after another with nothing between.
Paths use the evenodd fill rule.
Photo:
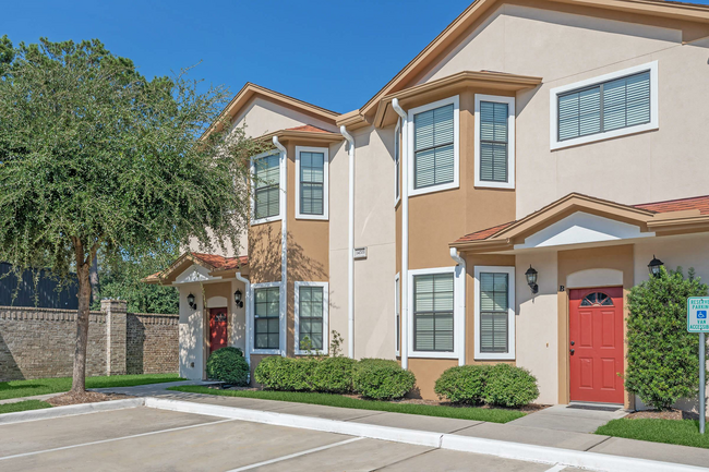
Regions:
<instances>
[{"instance_id":1,"label":"long white-painted concrete curb running diagonally to bottom right corner","mask_svg":"<svg viewBox=\"0 0 709 472\"><path fill-rule=\"evenodd\" d=\"M611 456L598 452L576 451L545 446L532 446L519 443L508 443L497 439L485 439L455 434L441 434L416 429L404 429L390 426L351 423L322 417L300 416L278 413L275 411L247 410L217 404L205 404L161 398L145 398L145 406L159 410L179 411L182 413L206 414L232 420L250 421L271 424L274 426L299 427L322 431L326 433L346 434L372 439L390 440L395 443L428 446L436 449L458 450L482 453L486 456L516 459L548 464L561 464L581 469L592 469L606 472L699 472L707 469L671 462L660 462L647 459L636 459L622 456Z\"/></svg>"}]
</instances>

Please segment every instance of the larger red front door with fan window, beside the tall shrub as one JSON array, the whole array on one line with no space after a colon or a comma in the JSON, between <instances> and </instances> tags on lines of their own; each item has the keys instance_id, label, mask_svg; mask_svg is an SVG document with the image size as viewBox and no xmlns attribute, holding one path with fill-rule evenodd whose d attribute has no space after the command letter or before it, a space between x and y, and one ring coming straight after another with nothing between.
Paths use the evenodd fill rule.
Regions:
<instances>
[{"instance_id":1,"label":"larger red front door with fan window, beside the tall shrub","mask_svg":"<svg viewBox=\"0 0 709 472\"><path fill-rule=\"evenodd\" d=\"M623 289L569 293L570 398L623 403Z\"/></svg>"}]
</instances>

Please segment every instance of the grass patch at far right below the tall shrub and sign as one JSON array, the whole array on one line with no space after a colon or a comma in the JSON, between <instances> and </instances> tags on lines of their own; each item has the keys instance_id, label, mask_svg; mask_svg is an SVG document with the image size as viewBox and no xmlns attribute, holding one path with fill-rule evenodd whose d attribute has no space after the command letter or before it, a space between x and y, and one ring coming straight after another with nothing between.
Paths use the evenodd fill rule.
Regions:
<instances>
[{"instance_id":1,"label":"grass patch at far right below the tall shrub and sign","mask_svg":"<svg viewBox=\"0 0 709 472\"><path fill-rule=\"evenodd\" d=\"M699 434L698 420L613 420L596 434L652 443L709 448L709 434Z\"/></svg>"}]
</instances>

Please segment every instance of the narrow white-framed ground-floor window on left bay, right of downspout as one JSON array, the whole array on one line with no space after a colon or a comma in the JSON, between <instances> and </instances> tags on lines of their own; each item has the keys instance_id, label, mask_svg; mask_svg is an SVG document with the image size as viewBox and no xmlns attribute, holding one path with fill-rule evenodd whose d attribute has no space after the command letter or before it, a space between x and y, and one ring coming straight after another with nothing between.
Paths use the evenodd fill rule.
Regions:
<instances>
[{"instance_id":1,"label":"narrow white-framed ground-floor window on left bay, right of downspout","mask_svg":"<svg viewBox=\"0 0 709 472\"><path fill-rule=\"evenodd\" d=\"M327 353L327 282L296 282L296 353Z\"/></svg>"}]
</instances>

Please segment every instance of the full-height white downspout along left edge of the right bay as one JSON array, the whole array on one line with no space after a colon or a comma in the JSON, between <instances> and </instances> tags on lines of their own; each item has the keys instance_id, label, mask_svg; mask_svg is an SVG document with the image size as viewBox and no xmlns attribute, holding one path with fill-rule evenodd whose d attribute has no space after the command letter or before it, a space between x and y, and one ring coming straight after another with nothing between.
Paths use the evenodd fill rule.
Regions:
<instances>
[{"instance_id":1,"label":"full-height white downspout along left edge of the right bay","mask_svg":"<svg viewBox=\"0 0 709 472\"><path fill-rule=\"evenodd\" d=\"M409 368L409 116L399 106L392 108L401 117L401 367ZM398 137L398 136L397 136Z\"/></svg>"}]
</instances>

